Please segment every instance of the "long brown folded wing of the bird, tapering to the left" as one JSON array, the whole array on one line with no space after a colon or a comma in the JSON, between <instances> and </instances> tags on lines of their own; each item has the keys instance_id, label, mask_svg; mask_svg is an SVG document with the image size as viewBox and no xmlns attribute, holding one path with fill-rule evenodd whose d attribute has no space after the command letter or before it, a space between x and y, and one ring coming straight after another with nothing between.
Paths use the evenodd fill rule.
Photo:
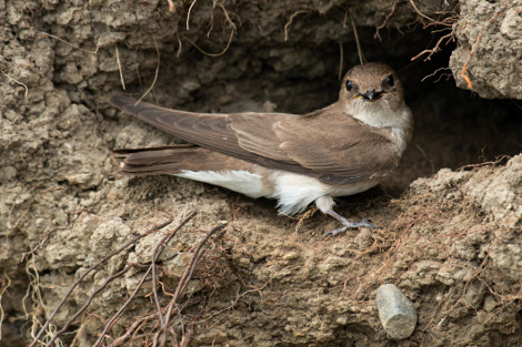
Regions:
<instances>
[{"instance_id":1,"label":"long brown folded wing of the bird, tapering to the left","mask_svg":"<svg viewBox=\"0 0 522 347\"><path fill-rule=\"evenodd\" d=\"M110 103L187 142L269 169L350 184L385 175L398 165L393 143L333 111L202 114L159 108L124 95Z\"/></svg>"}]
</instances>

